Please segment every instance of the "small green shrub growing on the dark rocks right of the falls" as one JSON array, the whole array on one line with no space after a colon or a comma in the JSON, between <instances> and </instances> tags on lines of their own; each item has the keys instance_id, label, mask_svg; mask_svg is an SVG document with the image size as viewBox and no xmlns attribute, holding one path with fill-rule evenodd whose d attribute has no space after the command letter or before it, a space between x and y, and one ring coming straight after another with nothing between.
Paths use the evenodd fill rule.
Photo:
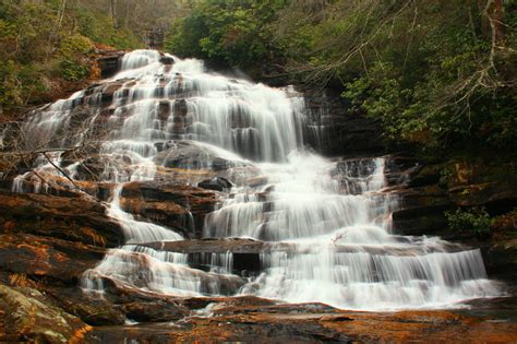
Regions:
<instances>
[{"instance_id":1,"label":"small green shrub growing on the dark rocks right of the falls","mask_svg":"<svg viewBox=\"0 0 517 344\"><path fill-rule=\"evenodd\" d=\"M493 223L484 207L472 207L467 211L458 209L455 212L446 212L445 216L450 230L472 233L477 236L490 234Z\"/></svg>"}]
</instances>

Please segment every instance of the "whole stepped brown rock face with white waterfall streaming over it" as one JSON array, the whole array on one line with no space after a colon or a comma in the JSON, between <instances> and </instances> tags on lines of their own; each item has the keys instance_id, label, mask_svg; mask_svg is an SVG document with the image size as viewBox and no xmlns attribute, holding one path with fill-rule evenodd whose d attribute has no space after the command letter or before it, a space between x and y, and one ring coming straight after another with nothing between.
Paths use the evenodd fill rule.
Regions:
<instances>
[{"instance_id":1,"label":"whole stepped brown rock face with white waterfall streaming over it","mask_svg":"<svg viewBox=\"0 0 517 344\"><path fill-rule=\"evenodd\" d=\"M414 162L304 149L337 153L330 139L344 134L338 144L350 154L382 151L369 123L334 126L332 102L334 115L316 114L322 98L154 50L101 63L110 79L27 117L31 140L17 144L33 154L1 185L0 290L27 305L22 312L61 317L59 341L389 341L408 321L418 325L404 339L419 340L422 328L464 330L470 320L339 309L502 294L478 249L397 222L393 232L392 214L423 202L408 189ZM0 306L12 339L39 335L5 316L11 304ZM373 331L380 322L395 330Z\"/></svg>"}]
</instances>

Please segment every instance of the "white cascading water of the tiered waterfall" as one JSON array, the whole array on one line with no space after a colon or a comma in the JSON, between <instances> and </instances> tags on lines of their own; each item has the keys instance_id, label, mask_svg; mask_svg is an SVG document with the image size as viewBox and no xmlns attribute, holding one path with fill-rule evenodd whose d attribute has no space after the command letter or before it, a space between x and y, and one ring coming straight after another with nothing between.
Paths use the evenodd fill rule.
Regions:
<instances>
[{"instance_id":1,"label":"white cascading water of the tiered waterfall","mask_svg":"<svg viewBox=\"0 0 517 344\"><path fill-rule=\"evenodd\" d=\"M120 223L125 245L85 273L86 292L103 292L109 278L170 295L253 294L370 310L450 307L498 294L479 250L390 233L398 199L387 192L384 157L329 161L302 150L306 114L292 88L211 74L199 60L154 50L125 55L121 71L95 87L38 110L24 127L34 138L29 149L64 152L104 135L98 179L116 185L108 215ZM80 134L65 135L77 127ZM81 162L67 165L61 155L52 162L76 176ZM257 274L236 275L231 252L192 259L142 245L183 239L120 205L125 182L157 180L168 164L208 168L233 182L206 216L203 237L267 241ZM36 165L59 175L48 162ZM17 177L13 191L45 191L35 179ZM195 269L199 263L212 269Z\"/></svg>"}]
</instances>

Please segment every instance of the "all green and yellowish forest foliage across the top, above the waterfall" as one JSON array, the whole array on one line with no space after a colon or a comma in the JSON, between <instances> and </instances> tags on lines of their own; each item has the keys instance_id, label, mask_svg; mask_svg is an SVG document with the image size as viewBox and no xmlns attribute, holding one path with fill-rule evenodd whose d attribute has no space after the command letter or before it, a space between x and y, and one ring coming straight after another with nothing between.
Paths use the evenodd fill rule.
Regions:
<instances>
[{"instance_id":1,"label":"all green and yellowish forest foliage across the top, above the waterfall","mask_svg":"<svg viewBox=\"0 0 517 344\"><path fill-rule=\"evenodd\" d=\"M377 119L387 140L429 152L517 149L515 1L503 2L500 19L496 2L485 11L488 0L153 3L159 8L119 1L115 23L107 1L69 1L61 23L58 0L2 1L2 107L87 78L94 44L140 48L149 27L170 21L166 50L258 74L284 68L297 82L340 87L351 111ZM502 23L495 45L491 19Z\"/></svg>"}]
</instances>

